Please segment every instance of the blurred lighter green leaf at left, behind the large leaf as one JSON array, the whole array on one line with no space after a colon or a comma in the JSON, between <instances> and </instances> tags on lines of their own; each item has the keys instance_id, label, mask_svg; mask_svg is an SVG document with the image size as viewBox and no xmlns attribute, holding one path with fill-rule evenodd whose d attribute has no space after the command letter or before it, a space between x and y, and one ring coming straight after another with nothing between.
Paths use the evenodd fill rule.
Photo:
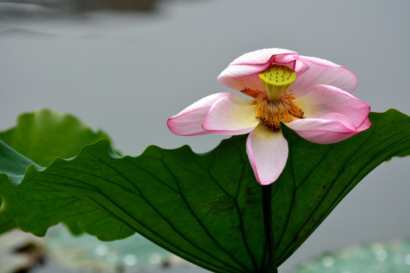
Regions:
<instances>
[{"instance_id":1,"label":"blurred lighter green leaf at left, behind the large leaf","mask_svg":"<svg viewBox=\"0 0 410 273\"><path fill-rule=\"evenodd\" d=\"M97 132L90 130L70 114L57 113L48 109L21 114L15 127L0 132L2 141L41 166L48 166L57 156L73 157L78 154L83 145L95 143L101 138L109 137L100 130ZM31 160L27 161L27 165L24 163L18 165L22 168L21 175L24 175L29 164L33 164ZM0 163L14 164L14 160L4 156L0 158ZM64 223L69 226L72 233L82 232L76 226L76 222L65 220ZM15 227L13 220L0 217L0 234L13 227Z\"/></svg>"}]
</instances>

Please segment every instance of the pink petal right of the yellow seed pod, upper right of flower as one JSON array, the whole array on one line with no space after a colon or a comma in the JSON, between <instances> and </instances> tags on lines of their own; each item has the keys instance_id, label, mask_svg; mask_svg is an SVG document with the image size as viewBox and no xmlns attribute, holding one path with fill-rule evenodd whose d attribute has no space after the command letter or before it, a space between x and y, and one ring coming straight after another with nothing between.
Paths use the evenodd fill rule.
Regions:
<instances>
[{"instance_id":1,"label":"pink petal right of the yellow seed pod, upper right of flower","mask_svg":"<svg viewBox=\"0 0 410 273\"><path fill-rule=\"evenodd\" d=\"M356 76L341 65L315 57L295 56L295 58L309 66L309 69L298 75L290 86L295 97L305 95L317 84L332 85L349 93L357 87Z\"/></svg>"}]
</instances>

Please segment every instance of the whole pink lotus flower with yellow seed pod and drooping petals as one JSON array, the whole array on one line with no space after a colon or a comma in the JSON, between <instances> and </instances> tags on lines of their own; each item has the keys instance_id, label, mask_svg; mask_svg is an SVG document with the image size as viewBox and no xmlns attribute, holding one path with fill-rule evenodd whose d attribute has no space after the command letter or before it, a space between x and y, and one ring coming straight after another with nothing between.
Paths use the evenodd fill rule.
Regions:
<instances>
[{"instance_id":1,"label":"whole pink lotus flower with yellow seed pod and drooping petals","mask_svg":"<svg viewBox=\"0 0 410 273\"><path fill-rule=\"evenodd\" d=\"M235 93L208 95L170 117L168 128L178 135L249 133L246 152L262 185L274 182L286 164L282 124L321 144L371 126L369 105L350 94L356 77L328 60L261 49L236 58L217 79L250 99Z\"/></svg>"}]
</instances>

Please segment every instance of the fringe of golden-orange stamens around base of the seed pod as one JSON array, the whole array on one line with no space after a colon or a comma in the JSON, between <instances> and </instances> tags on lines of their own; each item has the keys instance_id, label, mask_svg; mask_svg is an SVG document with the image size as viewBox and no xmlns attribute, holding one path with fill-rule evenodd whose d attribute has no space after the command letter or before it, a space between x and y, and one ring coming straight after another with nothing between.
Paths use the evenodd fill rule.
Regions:
<instances>
[{"instance_id":1,"label":"fringe of golden-orange stamens around base of the seed pod","mask_svg":"<svg viewBox=\"0 0 410 273\"><path fill-rule=\"evenodd\" d=\"M276 101L270 101L268 94L259 93L249 105L256 105L255 117L259 119L266 128L272 131L280 129L280 121L290 122L293 117L303 118L303 111L292 101L294 96L284 92Z\"/></svg>"}]
</instances>

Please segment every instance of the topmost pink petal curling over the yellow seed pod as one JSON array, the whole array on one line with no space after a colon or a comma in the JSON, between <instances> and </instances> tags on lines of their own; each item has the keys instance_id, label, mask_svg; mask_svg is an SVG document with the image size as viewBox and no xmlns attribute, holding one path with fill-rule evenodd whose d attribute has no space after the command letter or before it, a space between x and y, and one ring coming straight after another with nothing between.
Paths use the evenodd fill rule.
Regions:
<instances>
[{"instance_id":1,"label":"topmost pink petal curling over the yellow seed pod","mask_svg":"<svg viewBox=\"0 0 410 273\"><path fill-rule=\"evenodd\" d=\"M241 55L223 70L218 81L232 89L264 90L258 73L266 69L271 63L291 63L298 54L294 51L268 48L252 51Z\"/></svg>"}]
</instances>

